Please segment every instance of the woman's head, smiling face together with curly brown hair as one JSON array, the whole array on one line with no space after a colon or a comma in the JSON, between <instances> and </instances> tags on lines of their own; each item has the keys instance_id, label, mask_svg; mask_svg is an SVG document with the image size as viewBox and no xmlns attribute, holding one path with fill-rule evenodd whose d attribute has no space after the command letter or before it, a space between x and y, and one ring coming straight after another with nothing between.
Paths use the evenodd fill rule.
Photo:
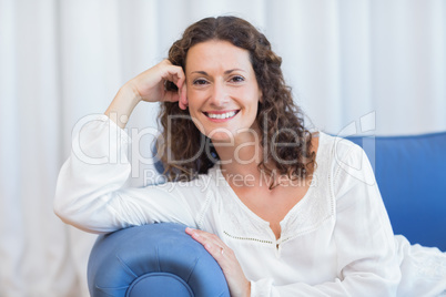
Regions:
<instances>
[{"instance_id":1,"label":"woman's head, smiling face together with curly brown hair","mask_svg":"<svg viewBox=\"0 0 446 297\"><path fill-rule=\"evenodd\" d=\"M160 112L164 130L158 151L172 181L206 173L223 157L215 151L221 141L253 147L262 143L262 150L253 152L256 155L243 160L256 160L259 170L271 176L300 180L311 175L315 166L312 134L283 79L282 59L251 23L234 17L203 19L174 42L169 61L187 76L186 88L168 84L169 90L187 89L183 104L189 103L189 110L181 110L181 104L163 102ZM222 119L234 112L233 119ZM201 154L192 157L196 152Z\"/></svg>"}]
</instances>

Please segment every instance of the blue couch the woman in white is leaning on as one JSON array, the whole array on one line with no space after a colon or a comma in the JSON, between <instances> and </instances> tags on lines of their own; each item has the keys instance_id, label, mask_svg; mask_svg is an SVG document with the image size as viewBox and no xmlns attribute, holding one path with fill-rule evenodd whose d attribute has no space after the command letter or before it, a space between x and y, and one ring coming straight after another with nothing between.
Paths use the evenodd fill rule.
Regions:
<instances>
[{"instance_id":1,"label":"blue couch the woman in white is leaning on","mask_svg":"<svg viewBox=\"0 0 446 297\"><path fill-rule=\"evenodd\" d=\"M349 137L375 170L395 234L446 250L446 132ZM210 254L185 226L153 224L100 236L88 269L92 296L230 296Z\"/></svg>"}]
</instances>

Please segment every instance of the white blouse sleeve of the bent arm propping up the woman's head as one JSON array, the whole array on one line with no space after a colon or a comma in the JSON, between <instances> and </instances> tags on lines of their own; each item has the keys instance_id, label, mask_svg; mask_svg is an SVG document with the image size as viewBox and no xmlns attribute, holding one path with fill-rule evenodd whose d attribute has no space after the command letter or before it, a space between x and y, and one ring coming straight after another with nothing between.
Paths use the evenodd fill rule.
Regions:
<instances>
[{"instance_id":1,"label":"white blouse sleeve of the bent arm propping up the woman's head","mask_svg":"<svg viewBox=\"0 0 446 297\"><path fill-rule=\"evenodd\" d=\"M126 187L130 139L105 115L73 133L72 152L58 178L54 212L65 223L91 233L154 222L196 227L206 199L201 183Z\"/></svg>"}]
</instances>

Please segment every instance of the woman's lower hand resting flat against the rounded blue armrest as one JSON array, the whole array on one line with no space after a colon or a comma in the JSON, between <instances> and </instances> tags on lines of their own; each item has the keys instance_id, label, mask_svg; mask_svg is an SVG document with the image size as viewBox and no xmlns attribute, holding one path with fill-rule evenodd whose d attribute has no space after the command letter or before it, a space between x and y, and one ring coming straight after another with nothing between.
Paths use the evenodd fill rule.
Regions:
<instances>
[{"instance_id":1,"label":"woman's lower hand resting flat against the rounded blue armrest","mask_svg":"<svg viewBox=\"0 0 446 297\"><path fill-rule=\"evenodd\" d=\"M226 278L231 297L246 297L251 295L251 283L246 279L234 252L219 236L189 227L185 232L202 244L219 263Z\"/></svg>"}]
</instances>

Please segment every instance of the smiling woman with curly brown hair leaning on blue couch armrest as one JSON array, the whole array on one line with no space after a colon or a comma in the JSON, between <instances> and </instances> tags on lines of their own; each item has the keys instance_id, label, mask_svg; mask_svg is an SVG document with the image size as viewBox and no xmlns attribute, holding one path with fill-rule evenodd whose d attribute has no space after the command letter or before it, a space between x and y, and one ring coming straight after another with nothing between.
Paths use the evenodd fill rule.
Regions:
<instances>
[{"instance_id":1,"label":"smiling woman with curly brown hair leaning on blue couch armrest","mask_svg":"<svg viewBox=\"0 0 446 297\"><path fill-rule=\"evenodd\" d=\"M162 102L159 152L171 182L134 188L119 116L141 101ZM189 27L169 60L125 83L73 141L87 155L118 152L123 162L88 164L72 154L54 205L64 222L93 233L189 225L184 232L219 263L231 296L446 289L446 254L394 236L364 151L305 129L281 59L244 20Z\"/></svg>"}]
</instances>

